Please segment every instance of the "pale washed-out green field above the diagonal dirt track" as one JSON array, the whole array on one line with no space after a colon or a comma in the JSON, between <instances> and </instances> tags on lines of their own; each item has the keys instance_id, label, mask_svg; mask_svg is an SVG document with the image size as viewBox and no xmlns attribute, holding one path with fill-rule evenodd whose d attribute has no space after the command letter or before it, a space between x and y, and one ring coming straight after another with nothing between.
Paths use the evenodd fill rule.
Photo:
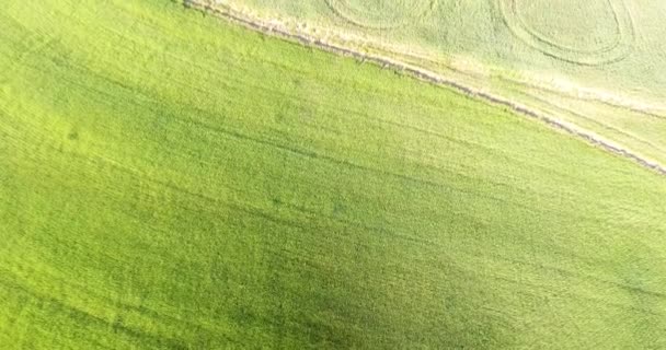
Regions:
<instances>
[{"instance_id":1,"label":"pale washed-out green field above the diagonal dirt track","mask_svg":"<svg viewBox=\"0 0 666 350\"><path fill-rule=\"evenodd\" d=\"M664 2L222 3L248 16L277 19L292 31L430 69L666 164ZM538 97L553 93L555 98Z\"/></svg>"}]
</instances>

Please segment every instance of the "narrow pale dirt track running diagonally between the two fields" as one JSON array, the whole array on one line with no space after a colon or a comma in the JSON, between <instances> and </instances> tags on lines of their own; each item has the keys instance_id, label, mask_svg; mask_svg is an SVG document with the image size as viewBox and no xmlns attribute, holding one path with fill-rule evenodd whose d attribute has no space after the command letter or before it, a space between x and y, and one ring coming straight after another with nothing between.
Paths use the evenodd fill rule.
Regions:
<instances>
[{"instance_id":1,"label":"narrow pale dirt track running diagonally between the two fields","mask_svg":"<svg viewBox=\"0 0 666 350\"><path fill-rule=\"evenodd\" d=\"M611 141L605 140L605 139L602 139L587 130L578 128L572 124L564 122L562 120L559 120L559 119L548 116L546 114L539 113L537 110L530 109L527 106L524 106L518 103L512 102L509 100L503 98L495 94L491 94L491 93L483 92L483 91L480 91L480 90L476 90L476 89L473 89L470 86L466 86L463 84L460 84L457 81L447 79L435 72L432 72L432 71L428 71L425 69L421 69L421 68L417 68L414 66L409 66L409 65L402 63L400 61L397 61L397 60L393 60L393 59L390 59L387 57L382 57L382 56L378 56L378 55L368 55L365 52L354 50L348 47L340 46L337 44L326 43L326 42L321 40L320 38L315 38L315 37L309 36L303 33L292 33L287 30L272 25L269 23L257 21L255 19L249 19L246 16L233 13L231 11L227 11L226 9L210 5L200 0L184 0L183 3L187 8L197 9L200 11L206 11L206 12L213 13L222 19L231 21L236 24L243 25L248 28L251 28L251 30L254 30L254 31L267 34L267 35L282 37L285 39L300 43L306 46L317 47L317 48L325 50L325 51L330 51L330 52L334 52L334 54L338 54L338 55L343 55L343 56L347 56L347 57L353 57L353 58L358 59L364 62L375 63L375 65L381 66L382 68L392 69L395 71L405 73L407 75L412 75L414 78L417 78L417 79L428 82L428 83L452 88L471 97L481 98L481 100L484 100L484 101L495 104L495 105L508 107L512 110L514 110L515 113L518 113L520 115L524 115L524 116L527 116L527 117L530 117L533 119L538 119L538 120L551 126L554 129L570 133L578 139L586 141L587 143L589 143L592 145L598 147L605 151L608 151L616 155L628 159L628 160L639 164L640 166L652 170L661 175L666 175L665 165L651 161L651 160L647 160L647 159L641 156L640 154L638 154L627 148L623 148L622 145L619 145Z\"/></svg>"}]
</instances>

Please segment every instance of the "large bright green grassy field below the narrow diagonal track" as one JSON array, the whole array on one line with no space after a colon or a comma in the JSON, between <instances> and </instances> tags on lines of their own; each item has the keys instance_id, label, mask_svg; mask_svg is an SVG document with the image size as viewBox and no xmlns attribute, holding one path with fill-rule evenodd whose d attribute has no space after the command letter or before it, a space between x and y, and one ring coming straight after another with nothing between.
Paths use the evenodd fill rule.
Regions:
<instances>
[{"instance_id":1,"label":"large bright green grassy field below the narrow diagonal track","mask_svg":"<svg viewBox=\"0 0 666 350\"><path fill-rule=\"evenodd\" d=\"M666 347L664 178L540 122L172 1L0 67L2 349Z\"/></svg>"}]
</instances>

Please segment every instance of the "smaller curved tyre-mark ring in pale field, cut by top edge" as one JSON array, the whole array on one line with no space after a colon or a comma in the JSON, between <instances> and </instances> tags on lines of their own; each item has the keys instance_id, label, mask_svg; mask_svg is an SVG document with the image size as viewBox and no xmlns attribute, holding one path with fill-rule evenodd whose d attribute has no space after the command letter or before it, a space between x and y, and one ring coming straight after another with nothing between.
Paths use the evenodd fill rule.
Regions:
<instances>
[{"instance_id":1,"label":"smaller curved tyre-mark ring in pale field, cut by top edge","mask_svg":"<svg viewBox=\"0 0 666 350\"><path fill-rule=\"evenodd\" d=\"M395 30L410 24L410 20L420 19L428 15L434 11L438 0L418 0L418 3L412 7L412 11L407 13L395 13L387 19L383 23L370 20L367 13L354 10L348 0L324 0L326 7L336 16L352 23L358 27L366 30ZM356 14L355 14L356 13Z\"/></svg>"}]
</instances>

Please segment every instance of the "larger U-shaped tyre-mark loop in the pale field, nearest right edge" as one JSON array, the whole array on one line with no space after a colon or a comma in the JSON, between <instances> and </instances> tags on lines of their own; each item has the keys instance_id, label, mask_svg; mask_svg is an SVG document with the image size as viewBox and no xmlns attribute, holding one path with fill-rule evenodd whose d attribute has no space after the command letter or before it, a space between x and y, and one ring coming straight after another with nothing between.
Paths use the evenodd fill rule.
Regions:
<instances>
[{"instance_id":1,"label":"larger U-shaped tyre-mark loop in the pale field, nearest right edge","mask_svg":"<svg viewBox=\"0 0 666 350\"><path fill-rule=\"evenodd\" d=\"M496 0L505 25L520 42L544 55L582 66L600 66L618 62L631 55L635 27L624 0L607 0L616 26L609 44L593 49L577 48L547 37L529 25L519 14L517 0Z\"/></svg>"}]
</instances>

